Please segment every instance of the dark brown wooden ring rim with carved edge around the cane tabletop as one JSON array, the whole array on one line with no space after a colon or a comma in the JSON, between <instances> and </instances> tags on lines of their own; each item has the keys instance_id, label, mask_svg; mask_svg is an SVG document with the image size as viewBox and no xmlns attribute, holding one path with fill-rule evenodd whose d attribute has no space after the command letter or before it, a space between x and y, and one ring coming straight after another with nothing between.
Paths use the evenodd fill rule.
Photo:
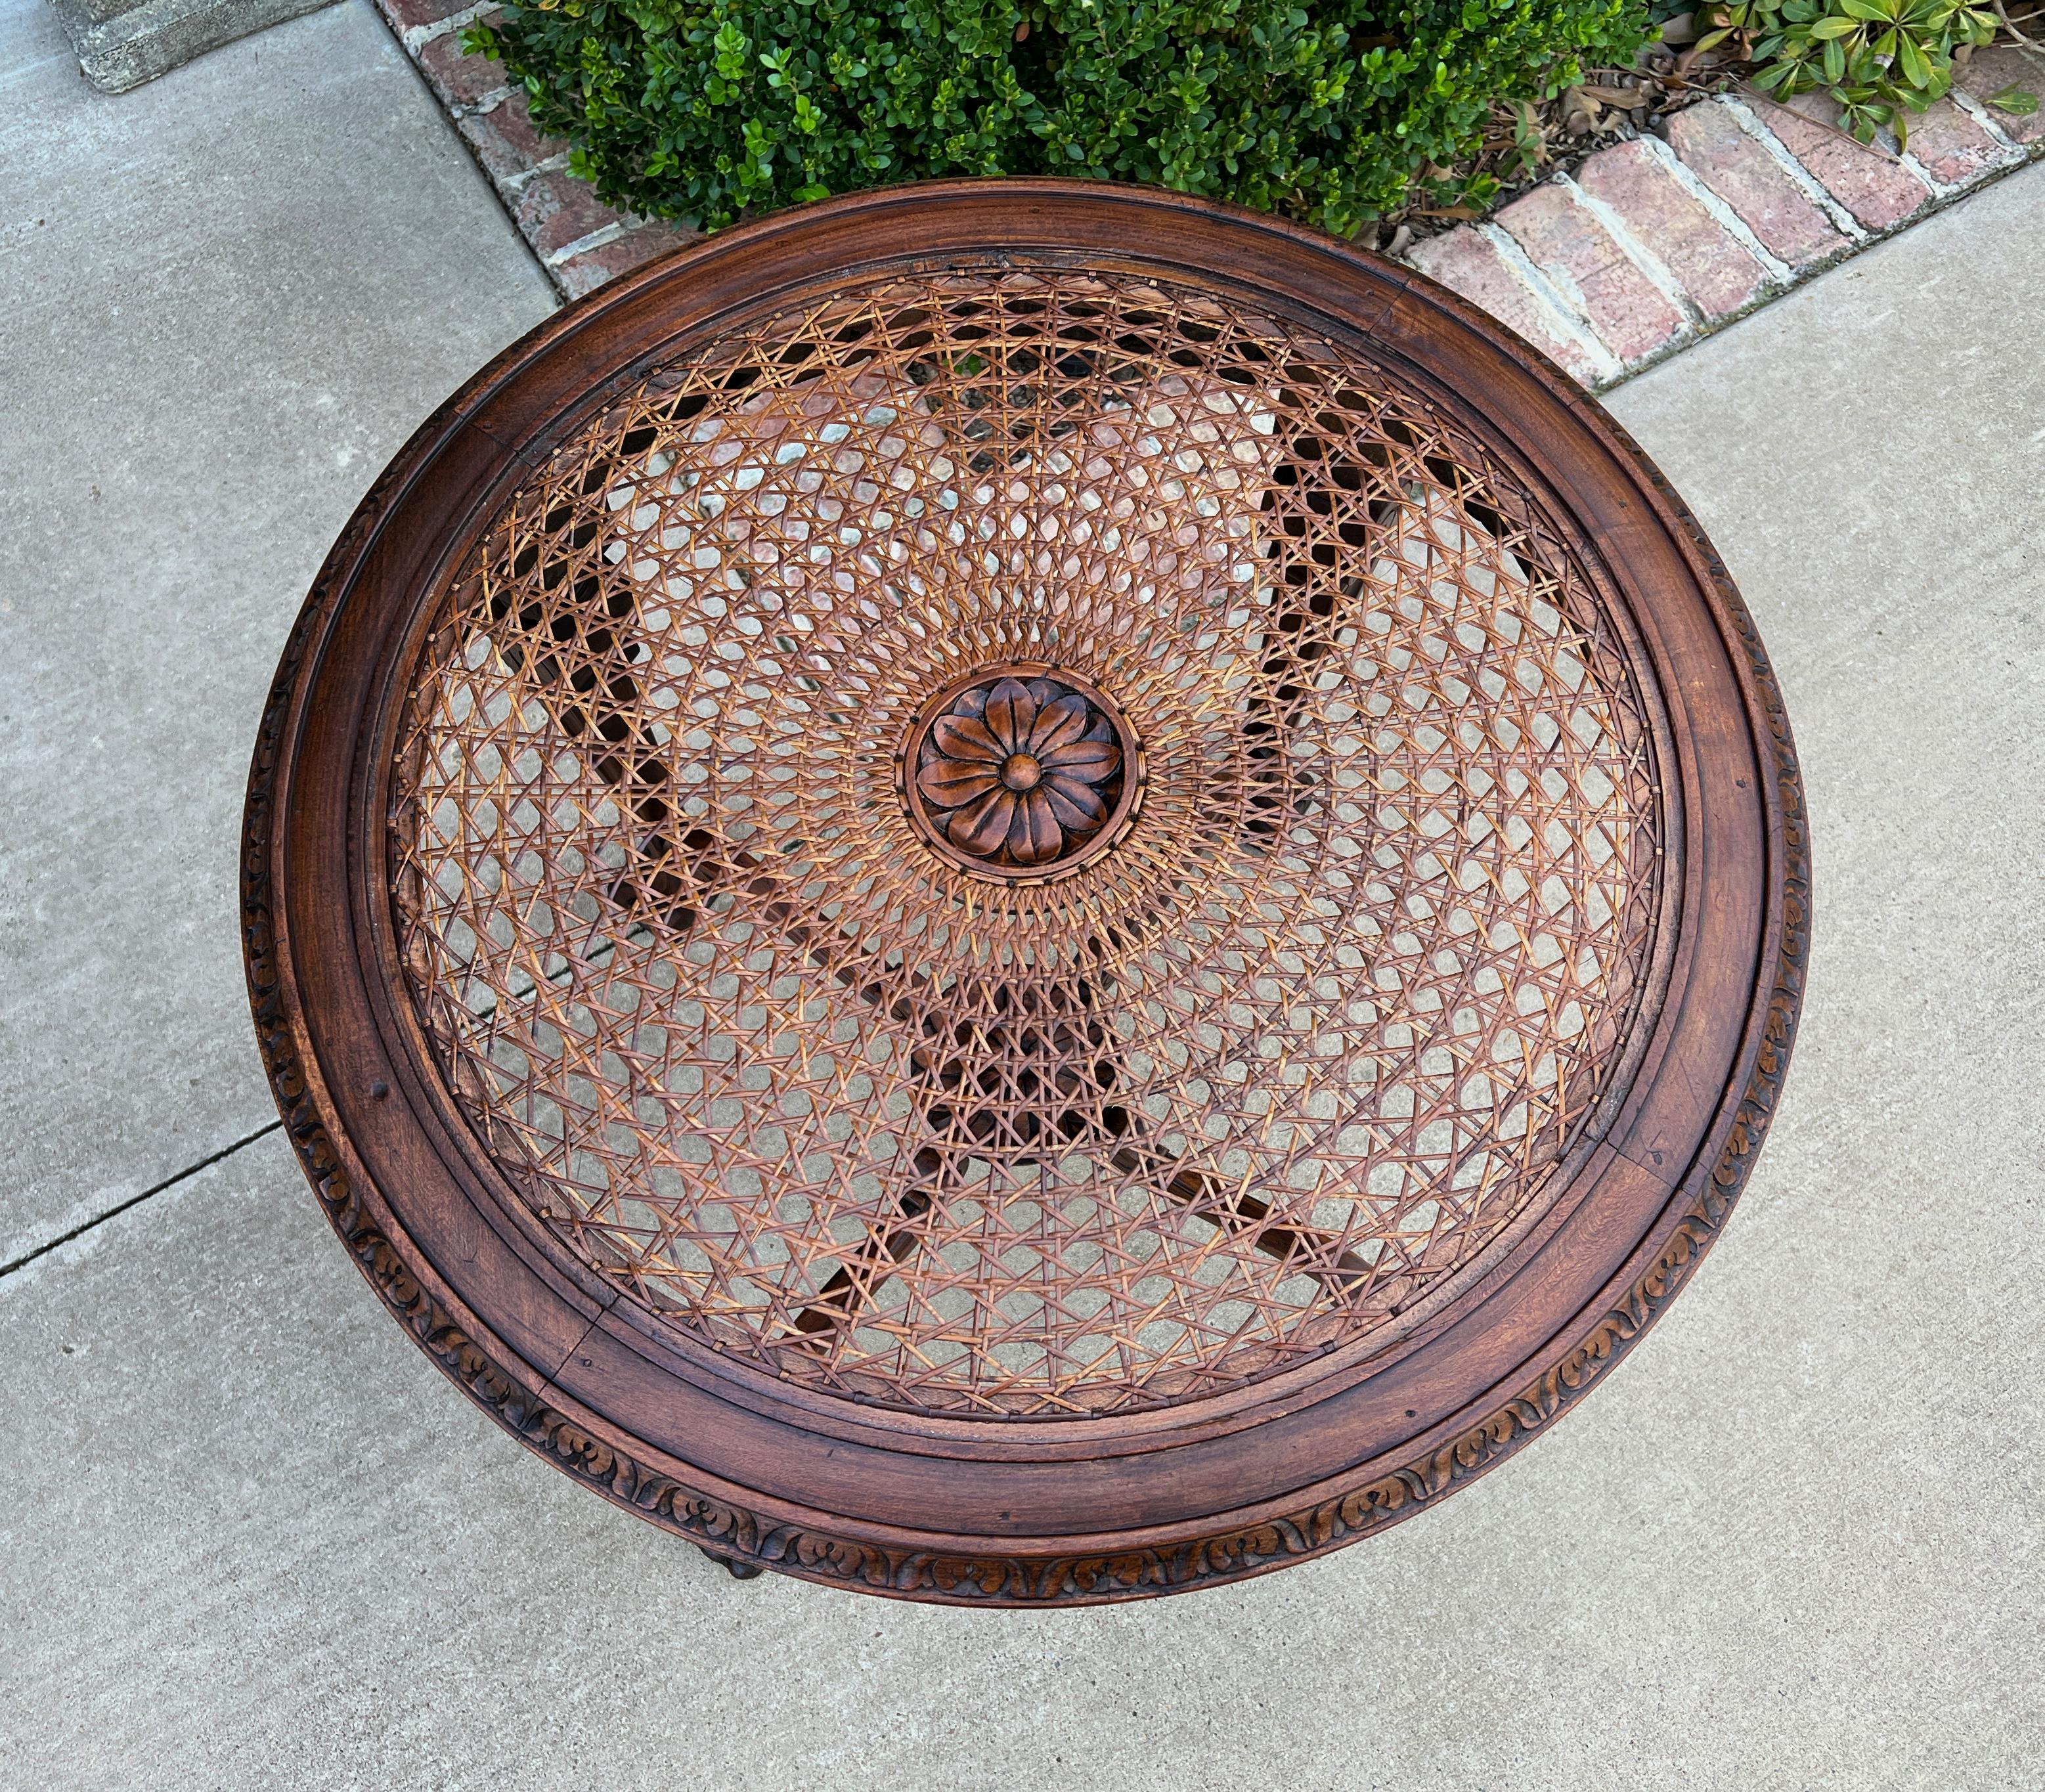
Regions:
<instances>
[{"instance_id":1,"label":"dark brown wooden ring rim with carved edge around the cane tabletop","mask_svg":"<svg viewBox=\"0 0 2045 1792\"><path fill-rule=\"evenodd\" d=\"M1597 544L1603 601L1636 630L1667 714L1671 826L1642 1037L1538 1223L1360 1360L1022 1428L779 1383L665 1332L562 1252L434 1068L395 955L376 759L397 728L389 667L417 655L427 597L536 444L656 352L763 293L885 266L1151 270L1358 344ZM417 432L329 554L264 712L243 833L272 1088L337 1234L421 1348L513 1436L665 1528L810 1579L959 1604L1262 1573L1395 1522L1542 1430L1724 1225L1781 1092L1808 927L1802 786L1767 655L1624 432L1403 268L1225 207L1065 182L896 188L767 219L507 350Z\"/></svg>"}]
</instances>

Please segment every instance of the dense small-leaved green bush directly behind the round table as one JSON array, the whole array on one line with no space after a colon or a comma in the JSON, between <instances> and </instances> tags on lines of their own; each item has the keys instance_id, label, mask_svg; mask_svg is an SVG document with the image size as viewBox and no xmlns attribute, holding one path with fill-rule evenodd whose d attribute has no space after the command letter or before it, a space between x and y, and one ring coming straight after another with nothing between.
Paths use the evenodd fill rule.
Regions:
<instances>
[{"instance_id":1,"label":"dense small-leaved green bush directly behind the round table","mask_svg":"<svg viewBox=\"0 0 2045 1792\"><path fill-rule=\"evenodd\" d=\"M530 0L472 29L603 198L718 229L957 174L1086 174L1350 235L1497 102L1626 63L1644 0ZM1434 164L1434 166L1429 166Z\"/></svg>"}]
</instances>

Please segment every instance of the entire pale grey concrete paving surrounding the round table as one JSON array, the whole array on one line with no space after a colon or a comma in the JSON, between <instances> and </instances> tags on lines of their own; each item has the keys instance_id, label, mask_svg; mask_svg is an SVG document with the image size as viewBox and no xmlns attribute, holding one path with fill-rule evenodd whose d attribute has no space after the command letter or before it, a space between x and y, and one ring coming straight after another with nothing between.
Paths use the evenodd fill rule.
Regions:
<instances>
[{"instance_id":1,"label":"entire pale grey concrete paving surrounding the round table","mask_svg":"<svg viewBox=\"0 0 2045 1792\"><path fill-rule=\"evenodd\" d=\"M268 1125L270 667L550 297L364 0L121 100L0 6L4 1260ZM1726 1242L1552 1436L1200 1596L738 1585L448 1389L262 1135L0 1279L0 1786L2037 1784L2039 241L2045 168L1609 401L1775 653L1816 951Z\"/></svg>"}]
</instances>

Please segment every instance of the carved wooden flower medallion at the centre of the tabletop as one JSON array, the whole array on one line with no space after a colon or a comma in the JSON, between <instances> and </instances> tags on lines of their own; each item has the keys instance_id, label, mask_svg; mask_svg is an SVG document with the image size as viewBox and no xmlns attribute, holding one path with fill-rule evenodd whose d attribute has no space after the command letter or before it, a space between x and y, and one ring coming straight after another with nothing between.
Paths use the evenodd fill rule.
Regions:
<instances>
[{"instance_id":1,"label":"carved wooden flower medallion at the centre of the tabletop","mask_svg":"<svg viewBox=\"0 0 2045 1792\"><path fill-rule=\"evenodd\" d=\"M980 878L1045 882L1135 820L1143 757L1094 683L1047 665L982 667L914 716L902 802L930 851Z\"/></svg>"}]
</instances>

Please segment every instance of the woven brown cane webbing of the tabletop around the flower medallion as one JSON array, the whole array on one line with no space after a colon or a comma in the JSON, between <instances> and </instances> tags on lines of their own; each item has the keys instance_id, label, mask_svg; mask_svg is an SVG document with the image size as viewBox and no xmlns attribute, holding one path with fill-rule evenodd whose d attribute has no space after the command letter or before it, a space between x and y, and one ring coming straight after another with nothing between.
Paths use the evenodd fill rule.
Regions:
<instances>
[{"instance_id":1,"label":"woven brown cane webbing of the tabletop around the flower medallion","mask_svg":"<svg viewBox=\"0 0 2045 1792\"><path fill-rule=\"evenodd\" d=\"M1106 693L1141 808L990 884L920 706ZM519 1197L693 1338L924 1412L1211 1395L1532 1223L1642 998L1652 730L1593 581L1354 346L892 276L575 432L431 618L401 951Z\"/></svg>"}]
</instances>

